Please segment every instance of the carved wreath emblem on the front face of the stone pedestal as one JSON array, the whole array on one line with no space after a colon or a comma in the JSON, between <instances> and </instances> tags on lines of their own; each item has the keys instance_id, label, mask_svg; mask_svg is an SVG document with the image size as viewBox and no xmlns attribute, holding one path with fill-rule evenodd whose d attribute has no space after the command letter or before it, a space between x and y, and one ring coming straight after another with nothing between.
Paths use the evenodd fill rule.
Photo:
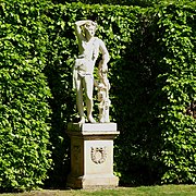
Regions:
<instances>
[{"instance_id":1,"label":"carved wreath emblem on the front face of the stone pedestal","mask_svg":"<svg viewBox=\"0 0 196 196\"><path fill-rule=\"evenodd\" d=\"M106 147L91 147L91 160L96 164L101 164L107 159Z\"/></svg>"}]
</instances>

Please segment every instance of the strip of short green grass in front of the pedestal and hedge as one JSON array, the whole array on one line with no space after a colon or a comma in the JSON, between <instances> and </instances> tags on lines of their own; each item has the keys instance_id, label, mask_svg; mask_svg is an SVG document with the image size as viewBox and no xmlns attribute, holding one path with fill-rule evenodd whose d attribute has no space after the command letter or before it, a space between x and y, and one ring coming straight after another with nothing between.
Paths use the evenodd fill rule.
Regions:
<instances>
[{"instance_id":1,"label":"strip of short green grass in front of the pedestal and hedge","mask_svg":"<svg viewBox=\"0 0 196 196\"><path fill-rule=\"evenodd\" d=\"M196 196L196 185L118 187L114 189L34 191L1 196Z\"/></svg>"}]
</instances>

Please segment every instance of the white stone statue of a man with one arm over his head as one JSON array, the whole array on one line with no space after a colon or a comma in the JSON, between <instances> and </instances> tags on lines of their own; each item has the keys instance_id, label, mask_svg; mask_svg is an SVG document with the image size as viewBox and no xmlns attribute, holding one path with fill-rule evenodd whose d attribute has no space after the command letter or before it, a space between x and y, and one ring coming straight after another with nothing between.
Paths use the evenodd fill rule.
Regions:
<instances>
[{"instance_id":1,"label":"white stone statue of a man with one arm over his head","mask_svg":"<svg viewBox=\"0 0 196 196\"><path fill-rule=\"evenodd\" d=\"M110 88L109 81L107 78L109 53L101 39L94 37L97 23L85 20L75 22L75 33L78 40L79 54L75 60L73 69L74 87L76 88L76 106L79 113L79 123L85 123L83 93L86 97L86 109L88 122L95 123L93 118L93 91L94 91L94 66L99 52L102 56L102 60L99 62L99 121L109 122L109 105L110 100L108 91ZM102 97L100 96L102 94ZM103 101L105 99L105 101ZM107 99L107 100L106 100ZM108 106L108 109L106 107ZM108 114L106 115L106 113Z\"/></svg>"}]
</instances>

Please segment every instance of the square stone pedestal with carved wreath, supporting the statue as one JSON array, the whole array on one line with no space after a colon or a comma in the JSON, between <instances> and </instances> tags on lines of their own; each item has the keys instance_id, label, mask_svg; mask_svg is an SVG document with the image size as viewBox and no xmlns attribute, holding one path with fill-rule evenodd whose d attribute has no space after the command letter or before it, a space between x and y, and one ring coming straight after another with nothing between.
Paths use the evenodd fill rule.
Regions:
<instances>
[{"instance_id":1,"label":"square stone pedestal with carved wreath, supporting the statue","mask_svg":"<svg viewBox=\"0 0 196 196\"><path fill-rule=\"evenodd\" d=\"M115 187L113 175L113 138L119 135L115 123L69 123L71 137L71 174L68 187Z\"/></svg>"}]
</instances>

